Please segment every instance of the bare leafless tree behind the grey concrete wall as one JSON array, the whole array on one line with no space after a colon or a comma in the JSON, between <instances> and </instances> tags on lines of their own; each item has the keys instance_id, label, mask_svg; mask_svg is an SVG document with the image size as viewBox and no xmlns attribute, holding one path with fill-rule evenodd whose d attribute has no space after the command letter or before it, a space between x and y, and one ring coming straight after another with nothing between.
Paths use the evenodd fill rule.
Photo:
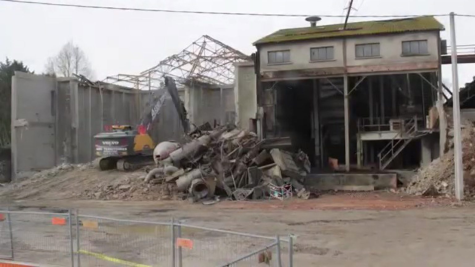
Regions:
<instances>
[{"instance_id":1,"label":"bare leafless tree behind the grey concrete wall","mask_svg":"<svg viewBox=\"0 0 475 267\"><path fill-rule=\"evenodd\" d=\"M45 68L48 74L56 76L70 77L72 74L80 74L90 77L92 74L84 51L72 41L67 42L55 57L49 57Z\"/></svg>"}]
</instances>

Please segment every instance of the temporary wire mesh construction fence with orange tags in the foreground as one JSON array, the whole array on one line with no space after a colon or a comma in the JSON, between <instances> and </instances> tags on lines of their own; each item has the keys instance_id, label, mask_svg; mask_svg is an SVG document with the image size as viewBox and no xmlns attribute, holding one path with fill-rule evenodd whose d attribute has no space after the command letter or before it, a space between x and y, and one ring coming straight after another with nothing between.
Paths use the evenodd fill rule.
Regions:
<instances>
[{"instance_id":1,"label":"temporary wire mesh construction fence with orange tags in the foreground","mask_svg":"<svg viewBox=\"0 0 475 267\"><path fill-rule=\"evenodd\" d=\"M168 222L0 210L0 258L58 266L293 266L293 239Z\"/></svg>"}]
</instances>

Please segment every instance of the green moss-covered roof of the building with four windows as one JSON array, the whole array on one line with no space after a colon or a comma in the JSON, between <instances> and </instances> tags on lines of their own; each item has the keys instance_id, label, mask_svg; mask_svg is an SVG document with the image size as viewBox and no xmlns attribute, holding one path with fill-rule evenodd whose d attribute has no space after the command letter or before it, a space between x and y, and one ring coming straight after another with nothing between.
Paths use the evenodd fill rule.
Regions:
<instances>
[{"instance_id":1,"label":"green moss-covered roof of the building with four windows","mask_svg":"<svg viewBox=\"0 0 475 267\"><path fill-rule=\"evenodd\" d=\"M389 19L352 22L342 30L343 24L317 25L316 27L280 29L264 38L260 38L254 45L278 43L306 39L333 38L355 35L371 35L398 33L407 31L445 30L444 25L434 17L415 17L407 19Z\"/></svg>"}]
</instances>

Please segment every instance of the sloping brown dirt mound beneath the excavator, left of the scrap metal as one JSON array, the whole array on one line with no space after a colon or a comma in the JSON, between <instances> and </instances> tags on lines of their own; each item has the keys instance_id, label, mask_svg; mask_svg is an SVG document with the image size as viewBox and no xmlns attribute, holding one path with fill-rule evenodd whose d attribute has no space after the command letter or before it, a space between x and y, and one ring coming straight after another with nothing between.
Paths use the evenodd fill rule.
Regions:
<instances>
[{"instance_id":1,"label":"sloping brown dirt mound beneath the excavator, left of the scrap metal","mask_svg":"<svg viewBox=\"0 0 475 267\"><path fill-rule=\"evenodd\" d=\"M178 199L168 184L144 183L147 170L99 171L92 164L65 164L0 188L0 200Z\"/></svg>"}]
</instances>

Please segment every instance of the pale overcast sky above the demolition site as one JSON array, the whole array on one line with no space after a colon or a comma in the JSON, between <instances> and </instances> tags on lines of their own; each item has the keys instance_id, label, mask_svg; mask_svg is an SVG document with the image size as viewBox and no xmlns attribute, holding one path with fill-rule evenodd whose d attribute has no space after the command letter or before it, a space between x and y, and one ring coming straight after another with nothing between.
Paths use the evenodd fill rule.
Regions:
<instances>
[{"instance_id":1,"label":"pale overcast sky above the demolition site","mask_svg":"<svg viewBox=\"0 0 475 267\"><path fill-rule=\"evenodd\" d=\"M37 0L55 3L169 10L342 15L348 0ZM467 0L354 0L352 15L475 14ZM137 74L178 53L202 35L251 54L252 42L277 29L306 27L304 18L200 15L121 10L93 10L0 1L0 60L21 60L37 73L47 58L73 40L85 51L96 79ZM449 38L448 17L437 17ZM340 23L323 18L320 24ZM371 20L350 18L350 21ZM458 45L475 44L475 18L456 18ZM460 64L460 86L475 76L473 64ZM443 77L451 80L450 65Z\"/></svg>"}]
</instances>

